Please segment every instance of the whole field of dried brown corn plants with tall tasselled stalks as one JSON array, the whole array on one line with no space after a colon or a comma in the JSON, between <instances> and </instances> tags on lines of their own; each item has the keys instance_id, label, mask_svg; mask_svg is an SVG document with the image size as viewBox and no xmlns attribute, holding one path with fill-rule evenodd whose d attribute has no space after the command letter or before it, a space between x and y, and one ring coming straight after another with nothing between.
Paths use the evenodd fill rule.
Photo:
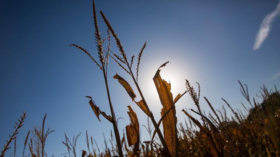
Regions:
<instances>
[{"instance_id":1,"label":"whole field of dried brown corn plants with tall tasselled stalks","mask_svg":"<svg viewBox=\"0 0 280 157\"><path fill-rule=\"evenodd\" d=\"M97 15L95 9L95 3L92 2L93 18L95 24L95 40L98 50L99 60L95 60L90 53L81 46L71 44L84 53L86 53L91 60L102 71L104 76L104 83L106 93L108 97L108 105L110 107L111 115L101 111L101 109L95 104L95 101L90 96L86 96L90 99L89 104L93 110L93 113L99 119L102 115L113 126L111 130L111 137L109 142L104 136L104 145L102 149L99 148L99 144L94 140L92 136L88 136L86 131L86 145L81 154L77 154L76 144L80 134L76 137L73 136L72 140L69 140L66 133L65 141L62 142L66 146L65 151L67 153L61 154L69 157L76 157L81 155L82 157L109 157L109 156L164 156L164 157L177 157L177 156L277 156L280 154L280 94L276 89L268 91L265 86L261 87L260 96L262 103L257 103L255 98L250 98L248 93L248 87L246 84L240 84L241 94L245 97L251 108L246 108L243 103L242 106L245 109L234 110L231 105L222 98L225 106L230 108L231 114L227 113L225 106L222 109L217 110L213 107L211 102L203 97L211 110L208 114L200 107L200 85L197 83L197 90L186 80L185 92L183 94L176 95L173 99L173 94L170 92L171 85L165 80L162 80L160 76L160 69L164 68L169 62L162 64L155 72L153 81L155 83L157 93L160 97L160 102L163 106L161 110L161 119L155 120L152 111L149 109L149 105L142 94L142 90L138 83L138 72L140 69L140 61L143 55L147 42L143 44L140 49L136 69L133 68L135 55L132 55L131 59L127 58L124 47L121 44L120 39L115 33L110 22L106 18L105 14L100 11L102 19L108 28L106 38L102 39L99 32L99 26L97 23ZM111 50L111 37L114 38L115 44L118 47L118 53L114 53ZM106 50L104 44L107 43ZM127 125L125 131L122 131L122 137L118 130L118 119L115 118L113 110L111 95L109 92L109 86L107 81L107 69L109 58L111 58L118 66L120 66L129 77L132 77L132 84L137 88L137 92L134 92L130 83L128 83L122 76L116 74L113 78L122 85L127 91L127 94L148 117L147 125L144 125L146 131L150 137L147 141L141 141L141 132L139 130L138 117L131 106L128 107L128 115L130 118L130 124ZM136 72L135 72L136 71ZM136 76L136 77L135 77ZM182 109L187 119L184 122L177 123L177 117L175 109L176 102L186 93L189 94L196 109ZM140 97L140 101L135 101L137 95ZM192 114L198 115L200 119L195 119ZM231 117L229 117L231 116ZM26 112L23 113L21 119L18 119L19 123L16 123L15 131L10 135L4 145L4 149L1 152L1 156L5 155L10 143L14 140L14 153L16 156L16 135L23 125ZM22 157L44 157L47 156L45 150L45 143L48 135L54 131L50 128L45 132L46 115L43 117L43 124L40 127L34 127L27 133L24 142L24 149ZM162 124L163 133L160 130ZM142 124L143 125L143 124ZM31 135L29 135L31 133ZM89 140L90 139L90 140ZM29 142L28 142L29 141ZM25 148L29 147L29 154L24 154Z\"/></svg>"}]
</instances>

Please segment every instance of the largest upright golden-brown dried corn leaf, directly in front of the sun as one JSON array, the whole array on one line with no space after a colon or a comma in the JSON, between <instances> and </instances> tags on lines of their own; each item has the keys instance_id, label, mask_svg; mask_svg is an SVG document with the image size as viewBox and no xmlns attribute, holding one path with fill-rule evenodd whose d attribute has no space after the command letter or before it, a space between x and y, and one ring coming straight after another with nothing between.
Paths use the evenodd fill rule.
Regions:
<instances>
[{"instance_id":1,"label":"largest upright golden-brown dried corn leaf, directly in front of the sun","mask_svg":"<svg viewBox=\"0 0 280 157\"><path fill-rule=\"evenodd\" d=\"M167 63L164 63L160 66L164 67ZM178 137L177 137L177 117L176 117L176 110L175 110L175 104L173 101L170 83L167 83L166 81L162 80L160 76L160 68L158 68L157 72L155 73L155 76L153 78L153 81L155 83L155 86L157 88L157 93L160 97L160 102L163 106L161 110L161 116L163 116L170 108L172 108L172 112L170 111L164 119L162 119L162 125L163 125L163 133L164 133L164 140L167 144L167 147L169 149L169 152L172 156L177 156L178 154Z\"/></svg>"}]
</instances>

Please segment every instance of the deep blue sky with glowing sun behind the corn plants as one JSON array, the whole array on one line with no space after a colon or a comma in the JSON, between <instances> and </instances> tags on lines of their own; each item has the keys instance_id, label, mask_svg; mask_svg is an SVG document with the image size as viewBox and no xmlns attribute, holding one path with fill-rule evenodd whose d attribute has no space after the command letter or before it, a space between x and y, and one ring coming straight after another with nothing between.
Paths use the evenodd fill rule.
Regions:
<instances>
[{"instance_id":1,"label":"deep blue sky with glowing sun behind the corn plants","mask_svg":"<svg viewBox=\"0 0 280 157\"><path fill-rule=\"evenodd\" d=\"M152 78L166 61L171 63L160 74L171 82L173 97L186 90L185 79L196 90L195 82L199 82L200 105L206 113L209 107L203 96L215 109L225 105L221 98L242 111L241 101L249 106L240 93L238 80L248 85L251 98L263 84L268 89L274 89L274 85L280 89L279 1L95 3L111 22L129 58L137 55L148 41L138 80L157 121L162 106ZM98 22L105 37L106 26L99 13ZM84 47L98 60L91 1L0 1L1 147L23 111L27 111L27 118L17 135L18 156L22 155L28 130L41 125L45 113L46 127L55 130L46 140L49 156L67 152L62 144L64 132L69 137L81 132L78 154L87 149L86 130L100 148L101 144L104 146L103 133L109 139L111 123L103 117L99 122L85 97L91 96L101 110L110 113L102 71L70 44ZM112 50L118 52L115 44ZM131 77L112 60L108 68L113 107L116 117L123 118L118 121L120 133L130 123L128 105L136 112L140 124L147 125L147 116L113 79L118 72L130 83L139 101ZM136 69L135 64L133 68ZM181 112L183 108L195 109L188 94L176 103L178 122L186 118ZM228 108L227 111L230 113ZM144 127L140 128L142 140L148 140ZM12 152L13 147L7 156Z\"/></svg>"}]
</instances>

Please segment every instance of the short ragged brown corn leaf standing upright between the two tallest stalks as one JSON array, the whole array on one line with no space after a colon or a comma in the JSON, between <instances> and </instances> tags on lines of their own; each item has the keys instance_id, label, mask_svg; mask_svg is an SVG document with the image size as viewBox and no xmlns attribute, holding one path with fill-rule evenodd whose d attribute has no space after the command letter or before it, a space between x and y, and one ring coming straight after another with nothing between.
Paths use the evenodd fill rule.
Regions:
<instances>
[{"instance_id":1,"label":"short ragged brown corn leaf standing upright between the two tallest stalks","mask_svg":"<svg viewBox=\"0 0 280 157\"><path fill-rule=\"evenodd\" d=\"M127 112L130 118L130 124L125 127L127 142L129 147L134 145L132 156L139 156L139 142L140 142L140 134L139 134L139 122L136 113L132 110L130 106L127 106L129 111Z\"/></svg>"}]
</instances>

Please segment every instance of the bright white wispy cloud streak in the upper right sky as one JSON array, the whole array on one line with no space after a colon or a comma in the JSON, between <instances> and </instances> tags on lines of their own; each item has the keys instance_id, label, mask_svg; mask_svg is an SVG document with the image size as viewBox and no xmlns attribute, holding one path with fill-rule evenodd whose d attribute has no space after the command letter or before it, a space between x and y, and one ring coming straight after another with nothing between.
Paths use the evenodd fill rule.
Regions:
<instances>
[{"instance_id":1,"label":"bright white wispy cloud streak in the upper right sky","mask_svg":"<svg viewBox=\"0 0 280 157\"><path fill-rule=\"evenodd\" d=\"M277 4L276 9L267 14L265 19L262 20L262 24L260 25L260 29L256 35L253 50L256 50L262 46L262 43L265 41L272 28L272 22L278 15L280 15L280 1Z\"/></svg>"}]
</instances>

